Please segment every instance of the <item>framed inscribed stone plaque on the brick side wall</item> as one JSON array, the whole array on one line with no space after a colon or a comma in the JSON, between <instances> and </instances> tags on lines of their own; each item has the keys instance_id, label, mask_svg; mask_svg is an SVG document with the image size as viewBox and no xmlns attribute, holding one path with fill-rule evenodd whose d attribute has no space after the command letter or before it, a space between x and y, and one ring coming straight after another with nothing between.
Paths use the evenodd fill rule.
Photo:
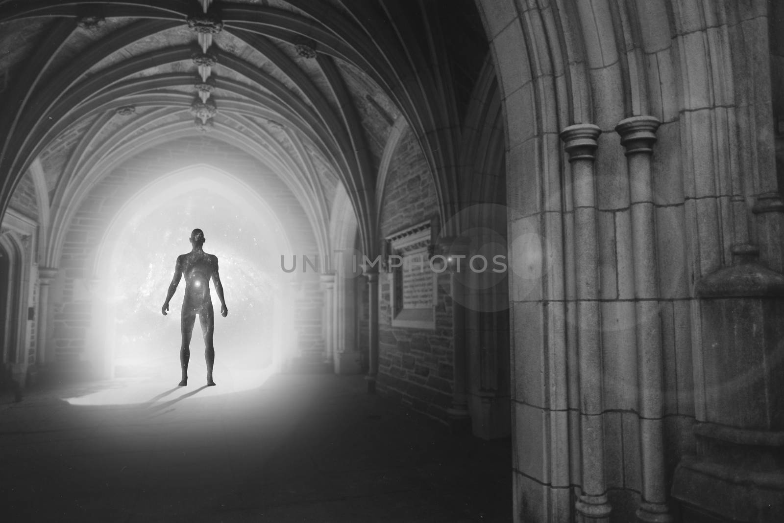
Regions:
<instances>
[{"instance_id":1,"label":"framed inscribed stone plaque on the brick side wall","mask_svg":"<svg viewBox=\"0 0 784 523\"><path fill-rule=\"evenodd\" d=\"M392 325L435 328L436 278L430 269L430 222L387 236Z\"/></svg>"}]
</instances>

